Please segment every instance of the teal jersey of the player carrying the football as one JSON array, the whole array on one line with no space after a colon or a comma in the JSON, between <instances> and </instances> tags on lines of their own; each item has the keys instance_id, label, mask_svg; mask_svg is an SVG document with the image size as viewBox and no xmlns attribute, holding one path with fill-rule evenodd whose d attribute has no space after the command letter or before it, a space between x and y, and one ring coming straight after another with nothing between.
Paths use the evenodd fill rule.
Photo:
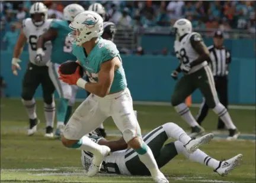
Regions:
<instances>
[{"instance_id":1,"label":"teal jersey of the player carrying the football","mask_svg":"<svg viewBox=\"0 0 256 183\"><path fill-rule=\"evenodd\" d=\"M83 47L73 45L73 55L78 58L91 83L98 82L98 72L100 71L100 66L104 61L111 60L114 57L119 57L121 61L116 44L111 41L104 40L101 37L99 39L100 40L92 49L91 53L89 53L88 57L86 57ZM123 66L121 66L114 72L114 80L110 88L110 93L120 92L121 90L124 90L126 86L126 76L124 74Z\"/></svg>"}]
</instances>

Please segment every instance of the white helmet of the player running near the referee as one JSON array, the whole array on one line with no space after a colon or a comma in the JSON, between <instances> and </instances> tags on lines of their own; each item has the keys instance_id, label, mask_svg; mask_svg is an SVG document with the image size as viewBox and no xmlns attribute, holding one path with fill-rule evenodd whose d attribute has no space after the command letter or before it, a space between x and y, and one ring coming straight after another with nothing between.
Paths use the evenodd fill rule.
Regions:
<instances>
[{"instance_id":1,"label":"white helmet of the player running near the referee","mask_svg":"<svg viewBox=\"0 0 256 183\"><path fill-rule=\"evenodd\" d=\"M178 37L182 37L184 34L189 34L192 32L192 24L188 19L181 18L178 19L174 26L175 28L175 34L178 35Z\"/></svg>"}]
</instances>

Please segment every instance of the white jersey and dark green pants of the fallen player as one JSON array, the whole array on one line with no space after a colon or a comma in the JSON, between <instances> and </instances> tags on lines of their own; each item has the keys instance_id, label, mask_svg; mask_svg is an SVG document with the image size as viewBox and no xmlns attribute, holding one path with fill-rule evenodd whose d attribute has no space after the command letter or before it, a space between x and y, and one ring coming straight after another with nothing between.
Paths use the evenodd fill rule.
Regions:
<instances>
[{"instance_id":1,"label":"white jersey and dark green pants of the fallen player","mask_svg":"<svg viewBox=\"0 0 256 183\"><path fill-rule=\"evenodd\" d=\"M166 165L177 155L174 142L164 146L164 143L168 139L168 135L165 130L167 130L166 124L153 129L151 132L143 136L143 140L149 148L151 148L159 168ZM100 142L100 139L102 139L95 134L89 135L89 138L96 143ZM82 166L84 166L87 171L91 165L92 158L92 153L82 151ZM121 175L151 175L148 168L146 168L146 166L140 161L137 152L133 149L111 152L109 156L104 158L101 166L101 172Z\"/></svg>"}]
</instances>

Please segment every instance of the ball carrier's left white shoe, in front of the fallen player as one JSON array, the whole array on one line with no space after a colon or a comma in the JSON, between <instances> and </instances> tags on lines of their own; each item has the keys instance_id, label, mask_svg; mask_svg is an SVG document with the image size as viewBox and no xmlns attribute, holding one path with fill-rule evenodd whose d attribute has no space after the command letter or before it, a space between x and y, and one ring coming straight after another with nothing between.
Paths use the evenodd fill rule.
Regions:
<instances>
[{"instance_id":1,"label":"ball carrier's left white shoe, in front of the fallen player","mask_svg":"<svg viewBox=\"0 0 256 183\"><path fill-rule=\"evenodd\" d=\"M103 162L103 159L105 158L105 156L110 155L110 148L108 148L108 146L102 146L102 150L101 150L101 154L100 155L94 155L94 158L92 159L92 163L89 166L88 169L88 177L92 177L94 175L97 174L98 171L100 171L101 168L101 164Z\"/></svg>"}]
</instances>

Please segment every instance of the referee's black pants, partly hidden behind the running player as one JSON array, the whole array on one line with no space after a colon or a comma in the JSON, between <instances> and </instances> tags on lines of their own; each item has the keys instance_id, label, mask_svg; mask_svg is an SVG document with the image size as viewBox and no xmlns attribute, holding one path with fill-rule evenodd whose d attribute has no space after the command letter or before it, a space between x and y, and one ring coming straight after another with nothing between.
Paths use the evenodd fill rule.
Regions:
<instances>
[{"instance_id":1,"label":"referee's black pants, partly hidden behind the running player","mask_svg":"<svg viewBox=\"0 0 256 183\"><path fill-rule=\"evenodd\" d=\"M227 76L215 76L215 87L217 94L219 96L220 103L223 104L223 106L228 109L228 77ZM207 106L205 100L203 99L203 103L201 104L199 114L197 115L197 123L201 125L203 122L204 118L207 116L209 107ZM223 121L219 118L218 119L218 124L217 124L217 129L224 129L225 124Z\"/></svg>"}]
</instances>

